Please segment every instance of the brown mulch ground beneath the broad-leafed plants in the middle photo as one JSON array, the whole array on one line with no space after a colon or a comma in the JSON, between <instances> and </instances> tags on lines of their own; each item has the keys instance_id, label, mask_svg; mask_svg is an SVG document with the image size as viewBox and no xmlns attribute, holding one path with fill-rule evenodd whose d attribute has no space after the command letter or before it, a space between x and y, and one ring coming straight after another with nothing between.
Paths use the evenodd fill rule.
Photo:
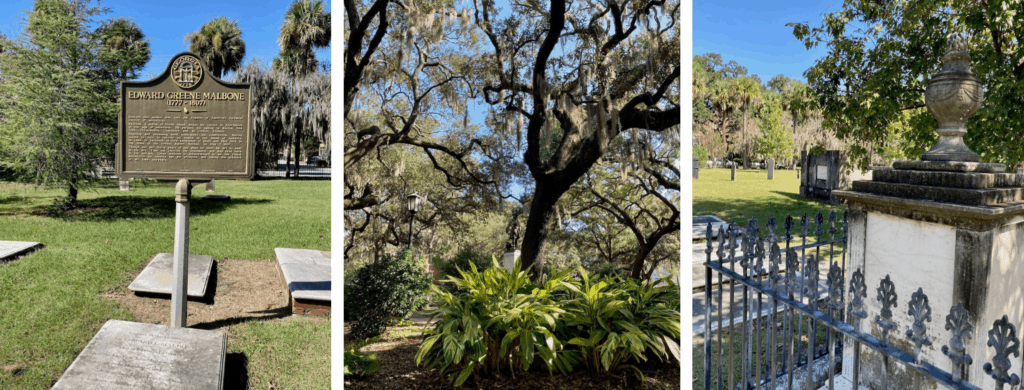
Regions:
<instances>
[{"instance_id":1,"label":"brown mulch ground beneath the broad-leafed plants in the middle photo","mask_svg":"<svg viewBox=\"0 0 1024 390\"><path fill-rule=\"evenodd\" d=\"M423 342L418 328L389 328L382 341L362 348L364 352L376 352L380 360L380 371L369 376L352 378L346 376L345 390L370 389L456 389L445 381L437 369L426 370L416 365L416 353ZM348 328L345 328L347 335ZM351 341L349 341L351 342ZM470 377L463 389L679 389L681 367L678 362L664 363L652 358L640 366L645 379L641 382L632 371L614 374L595 374L582 371L562 376L555 372L519 373L515 378L473 378Z\"/></svg>"}]
</instances>

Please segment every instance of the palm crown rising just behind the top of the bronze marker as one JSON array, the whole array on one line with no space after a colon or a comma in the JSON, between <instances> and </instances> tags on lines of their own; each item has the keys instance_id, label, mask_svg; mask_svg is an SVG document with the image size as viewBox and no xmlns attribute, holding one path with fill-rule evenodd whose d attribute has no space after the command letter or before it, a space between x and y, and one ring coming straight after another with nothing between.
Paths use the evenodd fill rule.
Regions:
<instances>
[{"instance_id":1,"label":"palm crown rising just behind the top of the bronze marker","mask_svg":"<svg viewBox=\"0 0 1024 390\"><path fill-rule=\"evenodd\" d=\"M207 21L199 31L185 36L188 50L200 56L210 73L218 79L224 73L238 72L246 56L239 23L220 16Z\"/></svg>"}]
</instances>

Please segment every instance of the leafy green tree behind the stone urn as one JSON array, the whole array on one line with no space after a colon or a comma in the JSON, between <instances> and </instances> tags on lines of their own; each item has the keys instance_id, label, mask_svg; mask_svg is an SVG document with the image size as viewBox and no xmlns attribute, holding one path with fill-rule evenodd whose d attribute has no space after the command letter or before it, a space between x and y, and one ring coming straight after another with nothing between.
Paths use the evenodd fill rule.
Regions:
<instances>
[{"instance_id":1,"label":"leafy green tree behind the stone urn","mask_svg":"<svg viewBox=\"0 0 1024 390\"><path fill-rule=\"evenodd\" d=\"M967 123L965 142L982 161L1019 165L1024 159L1024 30L1019 1L846 2L820 26L793 23L808 47L827 54L807 71L824 115L824 127L849 138L861 167L893 146L894 122L905 124L897 145L920 155L935 143L937 122L924 109L928 81L940 69L948 37L964 33L985 101Z\"/></svg>"}]
</instances>

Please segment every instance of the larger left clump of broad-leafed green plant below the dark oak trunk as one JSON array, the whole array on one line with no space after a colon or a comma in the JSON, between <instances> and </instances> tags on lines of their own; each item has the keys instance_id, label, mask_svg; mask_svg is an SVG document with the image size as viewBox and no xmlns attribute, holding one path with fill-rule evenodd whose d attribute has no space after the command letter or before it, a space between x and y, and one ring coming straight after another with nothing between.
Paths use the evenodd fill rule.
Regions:
<instances>
[{"instance_id":1,"label":"larger left clump of broad-leafed green plant below the dark oak trunk","mask_svg":"<svg viewBox=\"0 0 1024 390\"><path fill-rule=\"evenodd\" d=\"M537 357L549 371L568 373L578 355L564 353L554 335L563 311L552 299L567 274L556 274L538 286L529 281L528 270L521 270L518 261L512 272L496 259L493 263L482 272L471 263L469 270L459 270L462 278L442 280L466 291L465 295L432 287L444 302L432 312L441 319L427 332L430 336L420 346L417 364L439 366L456 386L474 372L514 375L517 370L529 370Z\"/></svg>"}]
</instances>

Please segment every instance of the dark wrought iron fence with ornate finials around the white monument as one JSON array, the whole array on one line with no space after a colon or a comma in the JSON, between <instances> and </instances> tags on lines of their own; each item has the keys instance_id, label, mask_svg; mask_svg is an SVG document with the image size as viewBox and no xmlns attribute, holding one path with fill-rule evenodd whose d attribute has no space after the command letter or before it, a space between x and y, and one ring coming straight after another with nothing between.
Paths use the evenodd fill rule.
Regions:
<instances>
[{"instance_id":1,"label":"dark wrought iron fence with ornate finials around the white monument","mask_svg":"<svg viewBox=\"0 0 1024 390\"><path fill-rule=\"evenodd\" d=\"M849 211L843 212L842 226L837 228L837 215L828 215L827 226L821 213L813 220L813 231L808 230L811 221L804 214L799 222L801 232L798 234L800 245L795 246L793 228L795 221L792 216L783 223L784 235L779 237L776 230L775 217L772 216L765 224L766 232L761 229L756 219L751 219L745 228L736 223L719 229L718 248L712 234L712 225L708 224L708 256L705 262L705 320L703 327L703 388L715 387L719 390L740 389L760 390L764 388L793 389L795 376L803 380L803 387L814 390L813 365L817 362L825 364L824 375L827 376L828 390L834 390L835 375L841 366L844 340L852 344L852 382L853 389L858 389L860 381L860 355L863 348L878 352L882 356L883 370L879 380L882 388L888 388L886 367L889 361L896 361L907 372L914 373L913 381L930 378L937 384L952 389L979 389L962 380L962 372L972 363L971 356L966 352L967 341L973 335L973 324L970 323L968 311L963 304L950 309L945 317L945 329L950 331L950 338L942 347L942 352L950 359L950 372L939 369L921 359L924 345L934 341L926 334L925 320L931 320L932 308L923 289L913 293L908 314L913 317L913 323L906 331L909 343L914 346L912 352L903 351L892 345L889 334L898 331L898 326L892 319L892 307L897 303L896 289L893 281L886 275L877 289L877 300L882 303L880 315L874 318L882 330L882 338L876 338L861 331L861 320L867 316L864 299L867 297L866 281L861 269L856 269L851 275L850 302L845 299L844 280L846 276L846 243L848 233ZM837 233L841 232L837 237ZM813 243L808 243L813 237ZM737 241L739 243L737 243ZM736 254L737 247L741 254ZM822 260L821 251L827 247L824 255L827 257L828 271L825 286L819 284L818 264ZM842 248L837 248L842 247ZM839 250L839 251L838 251ZM814 252L808 254L808 252ZM841 255L837 259L837 252ZM712 254L717 260L712 259ZM766 259L767 257L767 259ZM767 264L766 261L767 260ZM739 269L737 270L737 265ZM767 265L767 269L765 266ZM714 273L713 273L714 271ZM713 284L715 274L718 284ZM716 294L713 287L717 286ZM738 323L741 330L741 358L737 363L731 355L736 330L736 315L729 315L728 328L723 328L723 307L735 307L735 290L741 287L742 295L738 302L742 308L742 319ZM723 302L726 290L729 301ZM821 292L827 295L822 297ZM756 296L756 298L755 298ZM717 303L717 304L716 304ZM767 305L767 310L764 310ZM718 330L711 327L714 311L718 311ZM805 320L806 317L806 320ZM804 324L809 326L805 327ZM817 346L816 334L819 329L825 332L823 349ZM723 333L730 333L728 343L723 341ZM806 331L806 333L805 333ZM713 335L717 334L717 335ZM715 351L717 336L717 366L712 366L712 356ZM1017 375L1009 375L1009 354L1019 355L1019 339L1016 329L1006 315L993 323L988 332L988 346L995 348L995 357L990 363L985 363L984 371L996 382L996 389L1001 390L1004 384L1016 388L1020 384ZM806 343L802 340L806 337ZM725 355L728 353L729 355ZM815 361L817 360L817 362ZM737 366L738 365L738 366ZM799 370L803 369L803 370ZM728 373L726 373L728 371ZM799 378L799 372L803 378ZM738 372L738 373L735 373ZM951 374L950 374L951 373ZM735 381L736 374L739 379ZM916 384L915 384L916 385ZM915 386L916 388L916 386Z\"/></svg>"}]
</instances>

